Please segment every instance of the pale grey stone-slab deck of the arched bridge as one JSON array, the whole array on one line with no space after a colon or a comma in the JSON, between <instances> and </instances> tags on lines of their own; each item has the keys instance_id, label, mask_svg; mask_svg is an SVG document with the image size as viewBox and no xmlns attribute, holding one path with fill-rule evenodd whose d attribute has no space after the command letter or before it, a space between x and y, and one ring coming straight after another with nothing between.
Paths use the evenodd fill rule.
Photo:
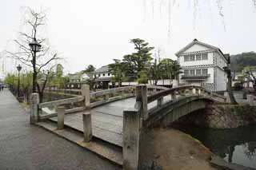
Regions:
<instances>
[{"instance_id":1,"label":"pale grey stone-slab deck of the arched bridge","mask_svg":"<svg viewBox=\"0 0 256 170\"><path fill-rule=\"evenodd\" d=\"M164 101L169 100L170 97L164 98ZM134 104L135 98L131 97L91 109L93 136L122 147L122 111L133 108ZM157 105L156 101L150 103L148 107L150 109L155 105ZM83 132L82 113L83 112L66 115L64 121L65 125ZM57 117L50 119L57 121Z\"/></svg>"}]
</instances>

